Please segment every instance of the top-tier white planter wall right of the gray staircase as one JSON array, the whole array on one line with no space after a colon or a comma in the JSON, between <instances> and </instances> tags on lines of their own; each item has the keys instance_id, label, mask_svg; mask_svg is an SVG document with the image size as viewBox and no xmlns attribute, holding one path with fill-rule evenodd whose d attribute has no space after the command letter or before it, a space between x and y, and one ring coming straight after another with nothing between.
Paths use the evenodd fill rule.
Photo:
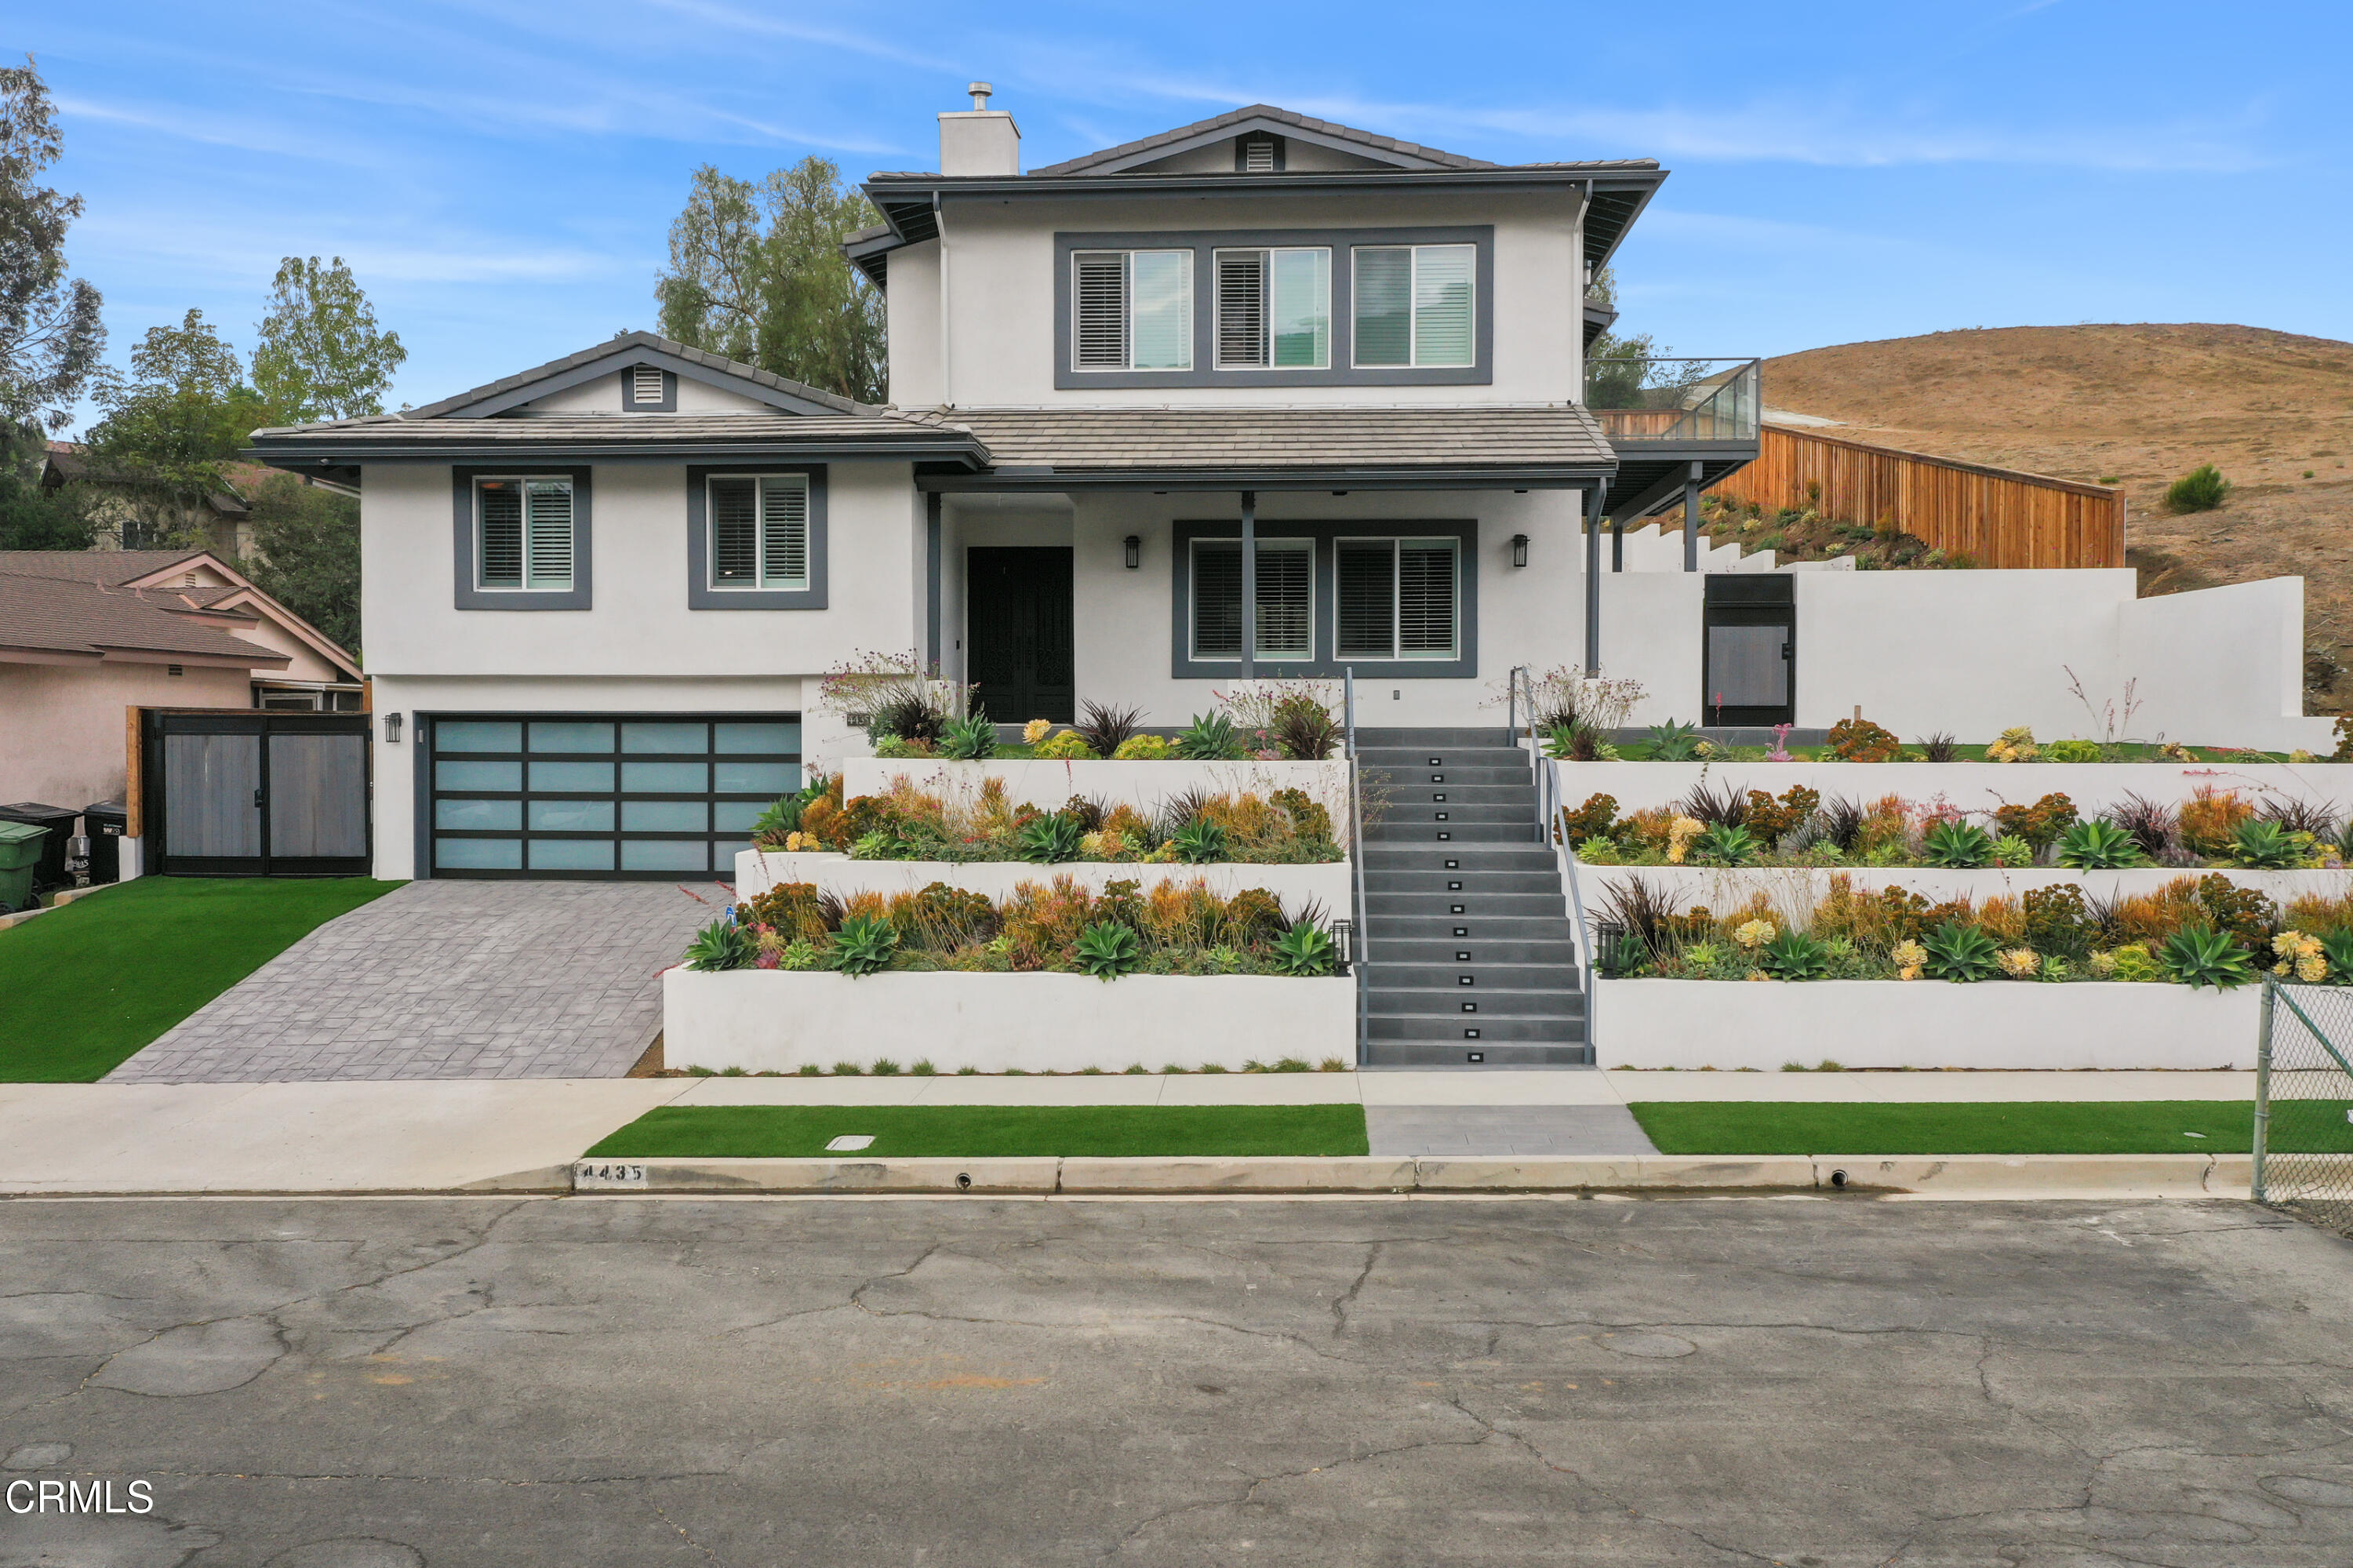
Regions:
<instances>
[{"instance_id":1,"label":"top-tier white planter wall right of the gray staircase","mask_svg":"<svg viewBox=\"0 0 2353 1568\"><path fill-rule=\"evenodd\" d=\"M1866 709L1868 713L1868 709ZM1673 805L1706 779L1751 791L1784 793L1798 784L1819 789L1821 798L1878 800L1904 796L1908 803L1946 800L1962 812L1991 812L1998 805L2033 805L2047 793L2061 793L2085 817L2122 805L2125 796L2181 803L2200 784L2235 789L2247 800L2280 793L2299 800L2325 800L2353 810L2353 765L2346 763L1558 763L1560 798L1569 810L1588 796L1617 796L1619 815L1647 805Z\"/></svg>"}]
</instances>

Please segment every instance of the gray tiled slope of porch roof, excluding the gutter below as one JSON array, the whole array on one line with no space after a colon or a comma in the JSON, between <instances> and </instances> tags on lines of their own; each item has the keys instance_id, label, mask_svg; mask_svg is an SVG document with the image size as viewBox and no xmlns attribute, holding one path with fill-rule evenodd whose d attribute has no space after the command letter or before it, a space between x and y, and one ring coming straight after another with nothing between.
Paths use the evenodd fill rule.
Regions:
<instances>
[{"instance_id":1,"label":"gray tiled slope of porch roof, excluding the gutter below","mask_svg":"<svg viewBox=\"0 0 2353 1568\"><path fill-rule=\"evenodd\" d=\"M1049 407L958 410L1007 464L1056 473L1591 469L1617 454L1581 407Z\"/></svg>"}]
</instances>

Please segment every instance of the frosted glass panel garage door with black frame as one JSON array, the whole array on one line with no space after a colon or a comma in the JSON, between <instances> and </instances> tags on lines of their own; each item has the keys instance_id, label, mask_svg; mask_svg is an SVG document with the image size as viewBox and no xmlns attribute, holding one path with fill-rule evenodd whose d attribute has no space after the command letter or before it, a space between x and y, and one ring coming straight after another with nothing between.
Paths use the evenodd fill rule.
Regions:
<instances>
[{"instance_id":1,"label":"frosted glass panel garage door with black frame","mask_svg":"<svg viewBox=\"0 0 2353 1568\"><path fill-rule=\"evenodd\" d=\"M428 751L433 876L732 881L800 789L800 713L452 713Z\"/></svg>"}]
</instances>

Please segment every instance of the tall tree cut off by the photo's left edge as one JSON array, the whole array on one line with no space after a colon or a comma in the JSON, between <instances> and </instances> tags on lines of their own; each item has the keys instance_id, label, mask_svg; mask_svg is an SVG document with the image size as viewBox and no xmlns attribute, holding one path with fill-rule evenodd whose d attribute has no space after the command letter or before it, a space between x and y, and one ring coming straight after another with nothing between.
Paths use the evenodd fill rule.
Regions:
<instances>
[{"instance_id":1,"label":"tall tree cut off by the photo's left edge","mask_svg":"<svg viewBox=\"0 0 2353 1568\"><path fill-rule=\"evenodd\" d=\"M64 431L106 346L99 290L66 278L80 195L35 184L66 144L28 54L0 68L0 419Z\"/></svg>"}]
</instances>

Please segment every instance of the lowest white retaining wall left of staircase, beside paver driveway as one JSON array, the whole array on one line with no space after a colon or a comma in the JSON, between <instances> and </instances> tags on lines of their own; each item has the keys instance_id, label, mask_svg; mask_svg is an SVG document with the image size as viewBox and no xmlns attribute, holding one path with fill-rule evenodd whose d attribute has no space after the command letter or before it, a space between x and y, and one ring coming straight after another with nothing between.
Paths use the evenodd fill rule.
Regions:
<instances>
[{"instance_id":1,"label":"lowest white retaining wall left of staircase, beside paver driveway","mask_svg":"<svg viewBox=\"0 0 2353 1568\"><path fill-rule=\"evenodd\" d=\"M664 1059L748 1074L805 1062L1068 1074L1355 1062L1355 982L1271 975L849 975L727 970L661 977Z\"/></svg>"}]
</instances>

